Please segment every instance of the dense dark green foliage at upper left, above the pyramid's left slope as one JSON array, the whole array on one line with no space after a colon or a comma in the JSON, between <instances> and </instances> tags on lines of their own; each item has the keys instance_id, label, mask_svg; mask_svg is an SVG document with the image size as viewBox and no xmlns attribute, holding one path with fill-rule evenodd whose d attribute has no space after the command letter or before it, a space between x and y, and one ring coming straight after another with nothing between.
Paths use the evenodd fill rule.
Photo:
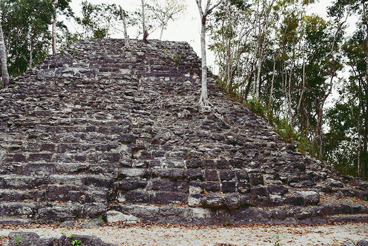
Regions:
<instances>
[{"instance_id":1,"label":"dense dark green foliage at upper left, above the pyramid's left slope","mask_svg":"<svg viewBox=\"0 0 368 246\"><path fill-rule=\"evenodd\" d=\"M25 72L30 61L33 66L47 56L55 11L50 0L3 0L0 10L8 72L14 77Z\"/></svg>"}]
</instances>

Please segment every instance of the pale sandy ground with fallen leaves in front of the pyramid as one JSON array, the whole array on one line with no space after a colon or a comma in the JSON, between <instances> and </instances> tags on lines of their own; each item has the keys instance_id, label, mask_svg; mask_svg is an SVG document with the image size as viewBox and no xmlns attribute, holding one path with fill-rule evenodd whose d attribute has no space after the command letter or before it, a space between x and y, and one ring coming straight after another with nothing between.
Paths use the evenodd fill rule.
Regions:
<instances>
[{"instance_id":1,"label":"pale sandy ground with fallen leaves in front of the pyramid","mask_svg":"<svg viewBox=\"0 0 368 246\"><path fill-rule=\"evenodd\" d=\"M6 245L11 231L36 232L41 237L92 235L116 245L342 245L347 240L368 240L368 224L339 224L325 226L185 226L174 224L115 224L90 229L13 228L0 229ZM218 244L219 243L219 244ZM280 243L280 244L277 244Z\"/></svg>"}]
</instances>

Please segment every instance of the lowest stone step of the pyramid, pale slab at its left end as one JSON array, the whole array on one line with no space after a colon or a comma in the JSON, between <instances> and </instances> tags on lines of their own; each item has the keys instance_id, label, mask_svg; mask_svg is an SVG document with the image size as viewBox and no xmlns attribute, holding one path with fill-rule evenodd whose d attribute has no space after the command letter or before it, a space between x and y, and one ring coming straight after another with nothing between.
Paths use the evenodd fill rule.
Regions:
<instances>
[{"instance_id":1,"label":"lowest stone step of the pyramid, pale slab at its left end","mask_svg":"<svg viewBox=\"0 0 368 246\"><path fill-rule=\"evenodd\" d=\"M114 204L107 211L109 222L160 222L192 224L326 224L330 222L368 222L368 211L363 214L326 216L323 206L205 209L177 206L144 206L138 204Z\"/></svg>"}]
</instances>

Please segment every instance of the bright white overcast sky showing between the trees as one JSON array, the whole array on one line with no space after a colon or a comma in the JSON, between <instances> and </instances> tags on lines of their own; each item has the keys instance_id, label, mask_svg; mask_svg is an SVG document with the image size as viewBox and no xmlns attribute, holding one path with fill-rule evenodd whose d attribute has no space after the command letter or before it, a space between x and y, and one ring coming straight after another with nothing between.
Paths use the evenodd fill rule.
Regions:
<instances>
[{"instance_id":1,"label":"bright white overcast sky showing between the trees","mask_svg":"<svg viewBox=\"0 0 368 246\"><path fill-rule=\"evenodd\" d=\"M80 14L80 3L82 0L72 0L71 7L77 13ZM140 8L140 0L88 0L92 4L120 4L121 7L128 11L133 11ZM204 2L204 1L203 1ZM213 2L213 1L212 1ZM163 32L162 40L171 41L186 41L194 49L194 51L200 56L200 22L198 8L194 0L187 0L188 10L185 16L170 22L167 29ZM317 13L322 17L326 17L326 7L331 5L331 0L320 0L319 3L312 5L308 10L308 13ZM121 28L122 29L122 28ZM135 33L130 33L130 37L133 37ZM124 38L122 33L113 35L114 38ZM152 33L149 39L158 39L159 31ZM208 65L214 67L214 56L211 52L208 52ZM214 71L217 72L216 70Z\"/></svg>"}]
</instances>

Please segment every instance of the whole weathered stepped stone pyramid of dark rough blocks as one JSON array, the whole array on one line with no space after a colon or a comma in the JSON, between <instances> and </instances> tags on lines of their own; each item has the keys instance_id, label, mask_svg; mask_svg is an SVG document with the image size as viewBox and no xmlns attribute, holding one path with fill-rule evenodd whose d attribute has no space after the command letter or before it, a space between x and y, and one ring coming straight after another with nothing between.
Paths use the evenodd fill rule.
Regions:
<instances>
[{"instance_id":1,"label":"whole weathered stepped stone pyramid of dark rough blocks","mask_svg":"<svg viewBox=\"0 0 368 246\"><path fill-rule=\"evenodd\" d=\"M285 144L183 42L83 40L0 91L0 222L368 222L368 183ZM16 222L15 222L16 221Z\"/></svg>"}]
</instances>

